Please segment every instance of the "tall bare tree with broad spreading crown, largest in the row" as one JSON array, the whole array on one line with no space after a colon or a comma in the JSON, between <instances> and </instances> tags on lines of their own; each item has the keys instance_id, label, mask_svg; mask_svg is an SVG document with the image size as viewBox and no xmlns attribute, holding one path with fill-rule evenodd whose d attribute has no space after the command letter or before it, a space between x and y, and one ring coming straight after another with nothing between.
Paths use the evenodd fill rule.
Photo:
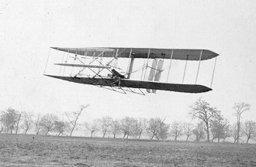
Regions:
<instances>
[{"instance_id":1,"label":"tall bare tree with broad spreading crown, largest in the row","mask_svg":"<svg viewBox=\"0 0 256 167\"><path fill-rule=\"evenodd\" d=\"M206 125L206 135L207 141L209 142L209 122L217 115L220 111L216 110L216 107L210 107L209 103L202 101L199 98L192 106L190 106L192 111L189 111L189 115L194 118L199 118Z\"/></svg>"}]
</instances>

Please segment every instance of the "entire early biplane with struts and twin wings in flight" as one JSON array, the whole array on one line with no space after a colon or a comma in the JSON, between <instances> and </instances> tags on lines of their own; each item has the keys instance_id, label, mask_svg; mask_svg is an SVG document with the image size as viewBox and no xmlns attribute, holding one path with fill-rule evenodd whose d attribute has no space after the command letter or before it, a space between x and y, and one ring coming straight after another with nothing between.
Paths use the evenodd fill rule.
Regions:
<instances>
[{"instance_id":1,"label":"entire early biplane with struts and twin wings in flight","mask_svg":"<svg viewBox=\"0 0 256 167\"><path fill-rule=\"evenodd\" d=\"M44 74L48 77L54 77L61 80L67 80L74 83L83 83L104 87L109 90L118 91L126 94L132 92L136 94L156 93L156 90L168 90L183 93L203 93L212 90L209 87L196 83L199 67L202 60L212 59L219 54L208 49L154 49L154 48L116 48L116 47L97 47L97 48L61 48L51 47L57 51L70 54L73 63L65 62L54 63L56 66L78 68L78 72L70 76ZM49 56L48 56L49 59ZM89 60L86 62L85 60ZM106 63L102 60L107 59ZM113 65L117 60L126 59L127 70L120 71L118 66ZM133 63L136 60L144 60L140 79L131 79L135 72ZM149 63L149 60L152 63ZM169 60L168 76L171 70L171 60L199 61L195 84L168 83L161 81L164 60ZM47 60L48 62L48 60ZM74 63L76 62L76 63ZM150 65L151 64L151 65ZM216 61L215 61L216 64ZM214 70L215 70L214 64ZM47 65L46 65L47 68ZM85 70L90 71L92 75L86 75ZM186 70L186 64L185 64ZM213 74L214 74L213 70ZM105 71L105 73L104 73ZM146 73L148 73L146 77ZM183 80L185 77L185 72ZM212 77L213 83L213 77Z\"/></svg>"}]
</instances>

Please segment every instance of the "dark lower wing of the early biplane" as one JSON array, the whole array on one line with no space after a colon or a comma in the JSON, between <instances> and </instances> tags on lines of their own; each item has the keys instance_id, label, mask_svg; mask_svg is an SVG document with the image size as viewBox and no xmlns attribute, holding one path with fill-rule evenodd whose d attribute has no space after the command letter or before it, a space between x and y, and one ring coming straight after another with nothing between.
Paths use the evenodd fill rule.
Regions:
<instances>
[{"instance_id":1,"label":"dark lower wing of the early biplane","mask_svg":"<svg viewBox=\"0 0 256 167\"><path fill-rule=\"evenodd\" d=\"M160 83L154 81L140 81L140 80L126 80L121 79L116 82L112 78L90 78L90 77L61 77L46 75L48 77L54 77L61 80L67 80L74 83L92 84L102 87L133 87L141 89L153 89L153 90L168 90L183 93L203 93L212 90L209 87L195 84L176 84L176 83ZM118 83L118 85L117 85Z\"/></svg>"}]
</instances>

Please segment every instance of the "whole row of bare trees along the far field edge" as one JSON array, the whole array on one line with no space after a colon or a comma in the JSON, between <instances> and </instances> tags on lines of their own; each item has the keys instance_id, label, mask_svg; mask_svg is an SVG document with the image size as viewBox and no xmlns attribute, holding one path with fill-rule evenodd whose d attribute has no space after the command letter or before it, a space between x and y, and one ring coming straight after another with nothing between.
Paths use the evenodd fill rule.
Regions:
<instances>
[{"instance_id":1,"label":"whole row of bare trees along the far field edge","mask_svg":"<svg viewBox=\"0 0 256 167\"><path fill-rule=\"evenodd\" d=\"M9 107L2 111L0 115L0 133L27 134L35 135L56 135L72 136L74 131L81 131L85 128L93 137L95 132L102 135L102 138L135 138L141 136L150 140L167 140L172 137L175 141L225 141L226 138L234 138L234 143L240 142L240 137L246 138L246 143L256 137L255 121L241 122L240 118L244 111L250 110L250 104L234 104L234 116L237 118L235 124L230 124L227 118L223 117L221 111L216 107L211 107L207 101L199 100L189 106L189 116L192 122L174 121L166 123L165 118L132 118L124 117L113 119L104 116L78 124L80 116L89 105L82 105L78 111L64 113L65 120L61 120L55 114L32 114L26 111L17 111ZM192 137L193 136L193 137Z\"/></svg>"}]
</instances>

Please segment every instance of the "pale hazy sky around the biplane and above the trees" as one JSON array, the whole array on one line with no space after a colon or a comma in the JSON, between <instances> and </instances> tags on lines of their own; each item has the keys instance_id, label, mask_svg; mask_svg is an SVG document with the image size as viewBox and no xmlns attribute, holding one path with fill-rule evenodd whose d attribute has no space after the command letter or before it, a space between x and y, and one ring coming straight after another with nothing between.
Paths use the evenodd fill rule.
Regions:
<instances>
[{"instance_id":1,"label":"pale hazy sky around the biplane and above the trees","mask_svg":"<svg viewBox=\"0 0 256 167\"><path fill-rule=\"evenodd\" d=\"M1 111L13 107L62 117L64 112L77 111L81 104L90 104L81 122L108 115L159 117L171 123L191 121L189 106L202 97L230 122L236 120L234 103L251 104L242 121L256 120L253 0L0 0L0 13ZM157 91L141 96L43 76L51 46L210 49L220 56L216 60L212 91ZM173 71L182 71L174 82L181 83L185 62L174 64ZM207 87L213 65L214 60L202 61L200 67L199 80L206 79Z\"/></svg>"}]
</instances>

